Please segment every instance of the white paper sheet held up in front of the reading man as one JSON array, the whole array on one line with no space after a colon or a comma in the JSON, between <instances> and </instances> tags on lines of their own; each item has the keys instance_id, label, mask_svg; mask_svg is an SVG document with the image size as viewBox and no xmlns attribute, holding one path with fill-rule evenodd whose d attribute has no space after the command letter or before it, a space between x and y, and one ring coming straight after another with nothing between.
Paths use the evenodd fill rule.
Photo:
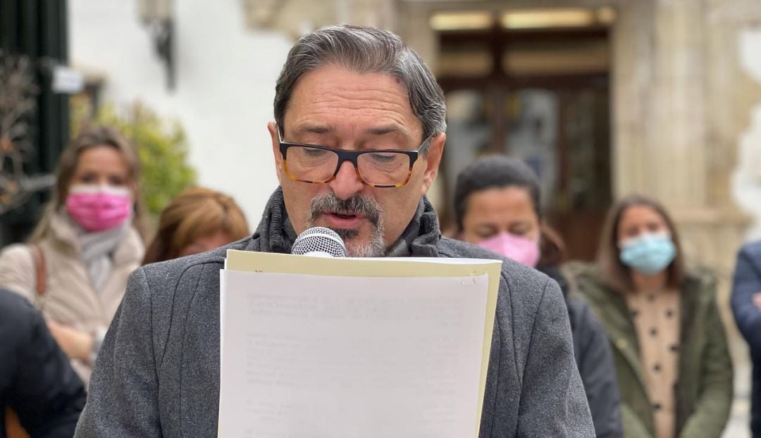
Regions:
<instances>
[{"instance_id":1,"label":"white paper sheet held up in front of the reading man","mask_svg":"<svg viewBox=\"0 0 761 438\"><path fill-rule=\"evenodd\" d=\"M478 430L486 275L222 271L221 284L220 436Z\"/></svg>"}]
</instances>

